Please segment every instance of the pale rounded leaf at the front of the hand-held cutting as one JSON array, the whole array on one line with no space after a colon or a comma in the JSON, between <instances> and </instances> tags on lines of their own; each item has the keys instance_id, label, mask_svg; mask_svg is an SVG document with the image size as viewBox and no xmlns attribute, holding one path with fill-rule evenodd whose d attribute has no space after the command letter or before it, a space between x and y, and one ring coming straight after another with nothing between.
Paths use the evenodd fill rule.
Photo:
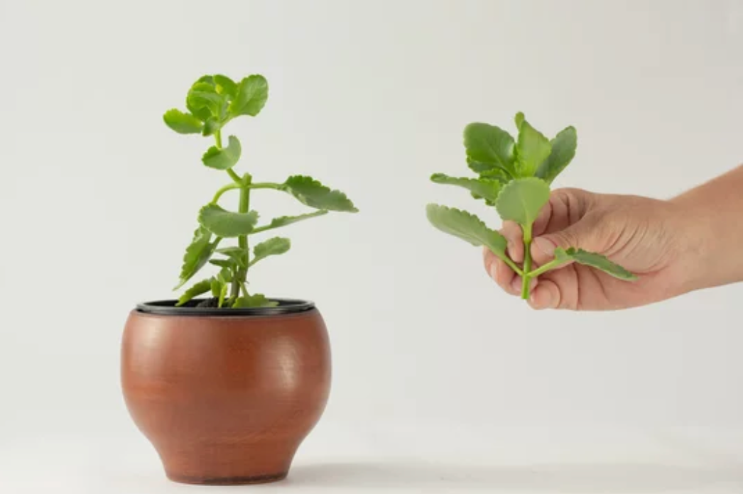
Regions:
<instances>
[{"instance_id":1,"label":"pale rounded leaf at the front of the hand-held cutting","mask_svg":"<svg viewBox=\"0 0 743 494\"><path fill-rule=\"evenodd\" d=\"M496 201L498 214L504 220L531 227L539 211L550 200L550 186L539 178L516 178L507 183Z\"/></svg>"}]
</instances>

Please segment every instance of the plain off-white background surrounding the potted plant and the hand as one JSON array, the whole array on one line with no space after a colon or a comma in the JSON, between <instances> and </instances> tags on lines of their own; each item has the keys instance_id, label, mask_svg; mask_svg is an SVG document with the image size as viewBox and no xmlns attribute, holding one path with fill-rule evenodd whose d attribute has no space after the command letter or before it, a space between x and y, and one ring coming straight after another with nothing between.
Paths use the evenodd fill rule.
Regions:
<instances>
[{"instance_id":1,"label":"plain off-white background surrounding the potted plant and the hand","mask_svg":"<svg viewBox=\"0 0 743 494\"><path fill-rule=\"evenodd\" d=\"M741 0L0 0L0 492L178 490L126 414L118 345L136 302L171 296L196 212L227 183L201 166L207 140L161 120L211 73L270 84L262 114L230 124L239 169L313 175L361 209L289 227L291 252L254 272L317 302L334 351L331 402L280 489L743 488L743 469L695 483L648 439L694 427L743 461L743 285L535 313L424 214L498 226L428 177L467 172L467 123L519 110L548 135L577 127L559 186L668 198L713 178L743 158L742 61ZM253 207L302 210L270 191ZM444 462L424 485L404 461L323 467L351 452L485 469ZM591 470L601 452L629 466ZM552 477L502 471L539 462Z\"/></svg>"}]
</instances>

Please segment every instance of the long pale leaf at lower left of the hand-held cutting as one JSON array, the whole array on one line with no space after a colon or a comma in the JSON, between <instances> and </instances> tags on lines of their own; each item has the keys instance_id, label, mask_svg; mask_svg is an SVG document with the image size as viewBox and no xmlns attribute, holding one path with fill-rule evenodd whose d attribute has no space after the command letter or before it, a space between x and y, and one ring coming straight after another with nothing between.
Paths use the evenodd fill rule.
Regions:
<instances>
[{"instance_id":1,"label":"long pale leaf at lower left of the hand-held cutting","mask_svg":"<svg viewBox=\"0 0 743 494\"><path fill-rule=\"evenodd\" d=\"M428 221L438 230L475 246L484 245L493 253L505 256L505 237L495 230L490 230L476 215L438 204L429 204L426 207L426 215Z\"/></svg>"}]
</instances>

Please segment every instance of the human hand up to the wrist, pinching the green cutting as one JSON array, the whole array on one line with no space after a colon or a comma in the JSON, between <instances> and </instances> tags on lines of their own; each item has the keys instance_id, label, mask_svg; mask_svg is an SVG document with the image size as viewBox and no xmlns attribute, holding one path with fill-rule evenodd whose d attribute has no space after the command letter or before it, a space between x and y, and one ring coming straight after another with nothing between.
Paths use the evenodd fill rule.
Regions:
<instances>
[{"instance_id":1,"label":"human hand up to the wrist, pinching the green cutting","mask_svg":"<svg viewBox=\"0 0 743 494\"><path fill-rule=\"evenodd\" d=\"M519 225L506 221L501 233L513 261L524 260ZM626 282L581 264L566 264L532 280L529 304L536 309L606 311L658 302L691 289L690 253L698 250L684 214L671 201L632 195L557 189L533 225L534 266L553 259L555 247L580 247L626 267L639 279ZM507 293L521 293L521 278L490 250L490 276ZM691 264L698 264L692 261Z\"/></svg>"}]
</instances>

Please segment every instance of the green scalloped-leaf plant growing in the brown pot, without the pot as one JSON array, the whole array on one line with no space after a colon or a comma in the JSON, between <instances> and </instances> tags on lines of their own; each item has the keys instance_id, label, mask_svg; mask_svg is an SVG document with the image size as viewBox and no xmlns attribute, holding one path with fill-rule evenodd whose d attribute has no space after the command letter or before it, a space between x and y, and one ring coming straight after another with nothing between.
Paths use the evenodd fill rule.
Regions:
<instances>
[{"instance_id":1,"label":"green scalloped-leaf plant growing in the brown pot, without the pot","mask_svg":"<svg viewBox=\"0 0 743 494\"><path fill-rule=\"evenodd\" d=\"M240 82L223 75L204 76L191 86L186 96L188 111L172 109L166 111L163 120L170 129L179 134L201 134L213 139L214 145L201 157L204 166L226 172L230 183L218 189L212 201L198 213L199 227L192 243L186 247L181 280L175 290L201 270L207 263L219 268L215 276L203 279L189 287L178 299L184 305L196 296L211 293L212 299L201 304L218 307L270 307L270 301L260 293L248 290L247 273L259 261L269 256L283 254L289 250L288 238L273 237L250 250L250 238L257 233L275 230L330 211L357 212L358 209L343 194L331 190L314 178L293 175L282 183L256 182L253 175L239 175L234 166L238 163L242 146L237 137L230 135L224 145L222 131L231 120L255 117L268 98L268 83L261 75L245 77ZM256 189L274 189L293 195L299 202L316 209L297 216L281 216L259 225L258 212L250 209L250 192ZM218 203L225 192L239 192L239 209L228 211ZM237 245L227 246L227 240L236 239Z\"/></svg>"}]
</instances>

